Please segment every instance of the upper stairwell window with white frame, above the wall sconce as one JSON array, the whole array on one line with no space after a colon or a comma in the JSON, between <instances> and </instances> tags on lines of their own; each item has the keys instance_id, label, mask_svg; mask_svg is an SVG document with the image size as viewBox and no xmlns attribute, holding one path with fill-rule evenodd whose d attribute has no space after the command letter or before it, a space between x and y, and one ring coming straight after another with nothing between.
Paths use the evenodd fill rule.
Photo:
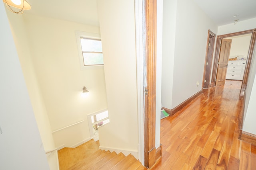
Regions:
<instances>
[{"instance_id":1,"label":"upper stairwell window with white frame, above the wall sconce","mask_svg":"<svg viewBox=\"0 0 256 170\"><path fill-rule=\"evenodd\" d=\"M103 68L103 54L100 34L76 31L81 69Z\"/></svg>"}]
</instances>

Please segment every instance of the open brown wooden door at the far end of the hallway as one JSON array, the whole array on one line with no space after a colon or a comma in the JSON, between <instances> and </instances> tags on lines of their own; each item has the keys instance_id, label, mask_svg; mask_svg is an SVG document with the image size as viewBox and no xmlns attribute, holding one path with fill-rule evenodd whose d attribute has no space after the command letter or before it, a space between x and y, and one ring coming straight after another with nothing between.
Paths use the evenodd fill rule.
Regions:
<instances>
[{"instance_id":1,"label":"open brown wooden door at the far end of the hallway","mask_svg":"<svg viewBox=\"0 0 256 170\"><path fill-rule=\"evenodd\" d=\"M216 86L225 84L232 39L222 39L218 61Z\"/></svg>"}]
</instances>

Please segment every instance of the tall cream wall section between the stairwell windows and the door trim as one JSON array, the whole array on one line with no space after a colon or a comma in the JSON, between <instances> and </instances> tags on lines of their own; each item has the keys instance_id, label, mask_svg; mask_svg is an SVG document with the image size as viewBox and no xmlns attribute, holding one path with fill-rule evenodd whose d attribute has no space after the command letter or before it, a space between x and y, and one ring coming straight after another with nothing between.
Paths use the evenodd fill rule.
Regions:
<instances>
[{"instance_id":1,"label":"tall cream wall section between the stairwell windows and the door trim","mask_svg":"<svg viewBox=\"0 0 256 170\"><path fill-rule=\"evenodd\" d=\"M138 158L134 1L97 2L110 117L99 128L100 147Z\"/></svg>"}]
</instances>

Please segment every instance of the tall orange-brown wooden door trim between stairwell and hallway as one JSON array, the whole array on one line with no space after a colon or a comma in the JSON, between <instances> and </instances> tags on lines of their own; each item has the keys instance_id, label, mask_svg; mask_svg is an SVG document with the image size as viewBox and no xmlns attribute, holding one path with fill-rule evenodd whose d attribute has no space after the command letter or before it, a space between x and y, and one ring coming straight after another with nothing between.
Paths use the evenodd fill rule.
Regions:
<instances>
[{"instance_id":1,"label":"tall orange-brown wooden door trim between stairwell and hallway","mask_svg":"<svg viewBox=\"0 0 256 170\"><path fill-rule=\"evenodd\" d=\"M145 75L144 85L144 166L156 162L156 0L144 0ZM146 92L147 90L147 92Z\"/></svg>"}]
</instances>

